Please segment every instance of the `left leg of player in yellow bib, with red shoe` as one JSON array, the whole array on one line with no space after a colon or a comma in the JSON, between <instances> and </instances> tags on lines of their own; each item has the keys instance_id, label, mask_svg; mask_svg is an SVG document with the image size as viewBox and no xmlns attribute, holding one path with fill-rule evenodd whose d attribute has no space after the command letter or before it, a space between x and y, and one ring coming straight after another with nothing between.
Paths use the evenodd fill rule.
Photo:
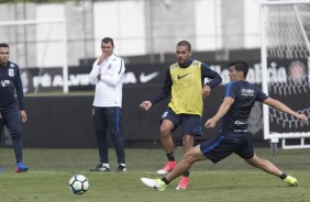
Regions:
<instances>
[{"instance_id":1,"label":"left leg of player in yellow bib, with red shoe","mask_svg":"<svg viewBox=\"0 0 310 202\"><path fill-rule=\"evenodd\" d=\"M168 161L162 169L157 170L157 173L159 175L166 175L176 167L174 154L175 145L171 137L171 132L177 128L180 121L180 116L176 114L171 109L167 109L162 116L160 142Z\"/></svg>"}]
</instances>

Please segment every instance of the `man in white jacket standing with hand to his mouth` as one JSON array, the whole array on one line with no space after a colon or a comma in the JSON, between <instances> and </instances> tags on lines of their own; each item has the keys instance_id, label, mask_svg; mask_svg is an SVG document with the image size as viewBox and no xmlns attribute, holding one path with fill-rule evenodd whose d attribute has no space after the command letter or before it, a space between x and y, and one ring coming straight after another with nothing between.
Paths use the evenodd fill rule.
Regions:
<instances>
[{"instance_id":1,"label":"man in white jacket standing with hand to his mouth","mask_svg":"<svg viewBox=\"0 0 310 202\"><path fill-rule=\"evenodd\" d=\"M126 171L124 143L121 131L122 88L125 71L124 61L117 56L114 42L110 37L101 41L101 56L93 63L89 82L96 85L92 122L98 142L100 162L90 171L110 171L108 158L108 130L112 137L118 171Z\"/></svg>"}]
</instances>

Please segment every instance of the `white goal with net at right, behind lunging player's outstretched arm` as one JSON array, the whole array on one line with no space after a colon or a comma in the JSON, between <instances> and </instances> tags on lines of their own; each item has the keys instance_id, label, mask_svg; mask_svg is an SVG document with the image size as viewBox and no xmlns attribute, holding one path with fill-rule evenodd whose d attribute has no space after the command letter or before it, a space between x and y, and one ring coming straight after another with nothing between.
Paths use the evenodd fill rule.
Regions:
<instances>
[{"instance_id":1,"label":"white goal with net at right, behind lunging player's outstretched arm","mask_svg":"<svg viewBox=\"0 0 310 202\"><path fill-rule=\"evenodd\" d=\"M263 91L310 116L310 0L259 1ZM264 138L310 148L310 126L264 105Z\"/></svg>"}]
</instances>

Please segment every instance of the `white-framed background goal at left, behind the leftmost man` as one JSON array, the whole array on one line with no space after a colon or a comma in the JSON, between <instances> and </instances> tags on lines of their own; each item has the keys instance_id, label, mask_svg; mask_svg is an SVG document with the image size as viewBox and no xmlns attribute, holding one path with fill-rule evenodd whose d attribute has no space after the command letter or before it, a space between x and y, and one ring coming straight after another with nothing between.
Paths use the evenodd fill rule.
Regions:
<instances>
[{"instance_id":1,"label":"white-framed background goal at left, behind the leftmost man","mask_svg":"<svg viewBox=\"0 0 310 202\"><path fill-rule=\"evenodd\" d=\"M0 29L1 41L10 45L10 58L23 69L38 69L33 81L30 81L29 76L22 75L24 87L26 82L33 82L34 92L40 92L38 88L51 80L44 78L43 69L62 66L63 91L68 92L65 19L0 21Z\"/></svg>"}]
</instances>

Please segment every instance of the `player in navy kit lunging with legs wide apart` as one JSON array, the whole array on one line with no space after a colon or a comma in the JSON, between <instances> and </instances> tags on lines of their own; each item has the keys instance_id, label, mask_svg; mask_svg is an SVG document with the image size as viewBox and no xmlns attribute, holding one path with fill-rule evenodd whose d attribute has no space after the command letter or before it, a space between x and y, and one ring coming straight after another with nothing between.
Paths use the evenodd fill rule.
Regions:
<instances>
[{"instance_id":1,"label":"player in navy kit lunging with legs wide apart","mask_svg":"<svg viewBox=\"0 0 310 202\"><path fill-rule=\"evenodd\" d=\"M255 153L247 133L247 121L255 101L263 102L276 110L288 113L302 124L309 124L305 114L292 111L278 100L266 96L262 90L246 81L248 66L243 60L229 64L231 82L226 86L224 100L217 114L209 119L204 126L212 128L222 119L222 130L215 137L208 139L185 154L177 167L162 179L141 178L142 182L158 191L164 191L167 184L188 170L193 162L210 159L217 164L235 153L253 167L283 179L291 187L298 186L296 178L284 173L279 168Z\"/></svg>"}]
</instances>

